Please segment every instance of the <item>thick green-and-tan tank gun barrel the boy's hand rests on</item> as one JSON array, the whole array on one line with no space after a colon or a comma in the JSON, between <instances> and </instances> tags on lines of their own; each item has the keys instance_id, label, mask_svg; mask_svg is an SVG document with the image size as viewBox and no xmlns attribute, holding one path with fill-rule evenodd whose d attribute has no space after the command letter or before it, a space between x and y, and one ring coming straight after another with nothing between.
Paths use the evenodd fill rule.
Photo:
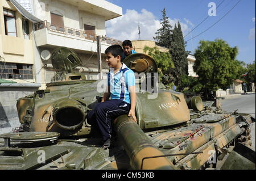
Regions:
<instances>
[{"instance_id":1,"label":"thick green-and-tan tank gun barrel the boy's hand rests on","mask_svg":"<svg viewBox=\"0 0 256 181\"><path fill-rule=\"evenodd\" d=\"M145 159L143 167L141 167L143 158L159 156L163 155L163 153L155 147L139 125L127 115L122 115L115 119L114 128L118 133L118 138L121 140L126 153L129 155L130 165L133 169L176 169L166 157Z\"/></svg>"}]
</instances>

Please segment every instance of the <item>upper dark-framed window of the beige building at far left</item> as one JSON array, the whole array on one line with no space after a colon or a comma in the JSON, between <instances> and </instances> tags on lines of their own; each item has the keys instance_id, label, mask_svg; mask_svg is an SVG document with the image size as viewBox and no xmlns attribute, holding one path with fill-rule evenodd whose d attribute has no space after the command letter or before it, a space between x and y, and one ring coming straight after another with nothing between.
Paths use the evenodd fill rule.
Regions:
<instances>
[{"instance_id":1,"label":"upper dark-framed window of the beige building at far left","mask_svg":"<svg viewBox=\"0 0 256 181\"><path fill-rule=\"evenodd\" d=\"M7 9L3 9L3 18L5 20L5 35L17 36L15 12Z\"/></svg>"}]
</instances>

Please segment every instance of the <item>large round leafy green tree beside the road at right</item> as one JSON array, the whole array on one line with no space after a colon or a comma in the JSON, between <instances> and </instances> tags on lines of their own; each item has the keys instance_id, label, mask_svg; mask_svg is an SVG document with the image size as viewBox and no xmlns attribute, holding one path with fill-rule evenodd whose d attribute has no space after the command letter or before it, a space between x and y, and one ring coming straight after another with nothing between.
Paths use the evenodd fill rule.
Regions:
<instances>
[{"instance_id":1,"label":"large round leafy green tree beside the road at right","mask_svg":"<svg viewBox=\"0 0 256 181\"><path fill-rule=\"evenodd\" d=\"M226 90L233 81L240 78L242 62L236 60L237 47L230 47L226 41L200 41L195 51L194 71L199 75L199 83L203 85L205 93Z\"/></svg>"}]
</instances>

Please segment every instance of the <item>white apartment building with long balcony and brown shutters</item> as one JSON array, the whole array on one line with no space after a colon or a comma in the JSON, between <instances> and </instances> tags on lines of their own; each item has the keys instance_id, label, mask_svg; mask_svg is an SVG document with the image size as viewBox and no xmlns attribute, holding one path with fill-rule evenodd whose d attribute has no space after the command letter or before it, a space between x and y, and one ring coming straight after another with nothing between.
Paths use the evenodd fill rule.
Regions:
<instances>
[{"instance_id":1,"label":"white apartment building with long balcony and brown shutters","mask_svg":"<svg viewBox=\"0 0 256 181\"><path fill-rule=\"evenodd\" d=\"M121 41L106 37L105 22L122 15L122 8L104 0L34 0L34 14L42 20L35 24L36 70L40 71L41 89L51 81L55 71L51 60L42 52L51 53L57 47L67 47L79 54L82 65L75 71L82 71L87 79L99 79L96 36L101 37L101 54L105 49ZM43 57L42 57L43 56ZM47 55L46 55L47 57ZM103 76L108 65L102 61Z\"/></svg>"}]
</instances>

